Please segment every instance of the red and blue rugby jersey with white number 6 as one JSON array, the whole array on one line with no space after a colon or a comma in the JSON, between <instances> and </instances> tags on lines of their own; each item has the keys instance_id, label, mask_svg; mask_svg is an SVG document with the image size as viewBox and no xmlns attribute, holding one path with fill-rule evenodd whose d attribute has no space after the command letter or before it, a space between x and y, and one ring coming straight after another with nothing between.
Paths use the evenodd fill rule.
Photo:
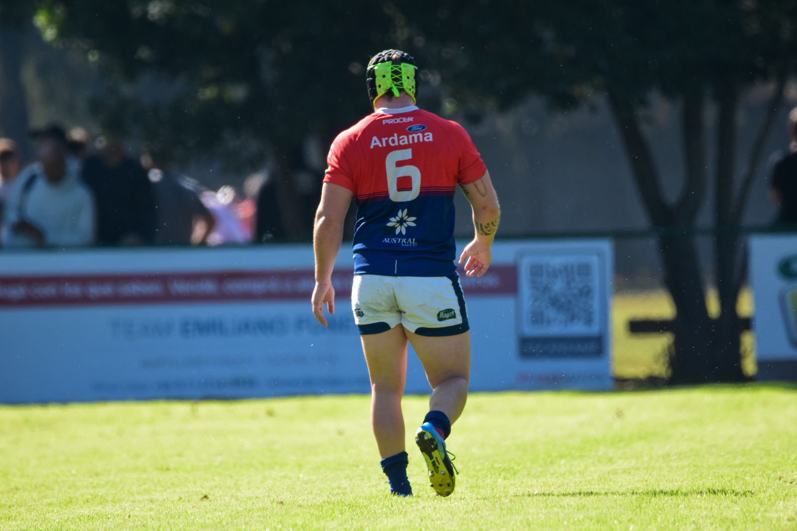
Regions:
<instances>
[{"instance_id":1,"label":"red and blue rugby jersey with white number 6","mask_svg":"<svg viewBox=\"0 0 797 531\"><path fill-rule=\"evenodd\" d=\"M467 132L418 107L385 109L340 133L324 182L354 193L355 275L450 276L453 194L487 171Z\"/></svg>"}]
</instances>

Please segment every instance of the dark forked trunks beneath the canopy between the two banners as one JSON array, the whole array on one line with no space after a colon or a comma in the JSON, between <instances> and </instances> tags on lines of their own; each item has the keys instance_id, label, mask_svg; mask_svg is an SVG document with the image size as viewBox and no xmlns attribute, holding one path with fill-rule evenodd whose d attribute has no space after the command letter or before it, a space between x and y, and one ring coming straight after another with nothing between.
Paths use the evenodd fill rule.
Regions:
<instances>
[{"instance_id":1,"label":"dark forked trunks beneath the canopy between the two banners","mask_svg":"<svg viewBox=\"0 0 797 531\"><path fill-rule=\"evenodd\" d=\"M670 381L674 384L696 384L740 380L741 330L736 315L738 289L733 291L736 278L736 235L717 234L715 238L717 280L718 285L722 284L720 297L724 303L720 318L713 320L706 306L705 285L694 236L691 234L706 188L702 89L697 88L684 97L682 134L686 180L684 189L673 206L668 205L662 195L658 172L639 125L634 102L623 100L612 92L609 96L646 213L654 227L665 231L659 237L659 252L664 265L665 285L673 297L677 312ZM730 206L725 209L722 205L732 204L732 164L735 157L732 146L728 147L728 142L735 140L733 113L736 111L736 99L733 93L730 96L724 111L720 110L718 136L720 168L717 170L717 201L720 206L717 215L721 211L723 220L726 211L731 211ZM731 119L730 123L728 117ZM731 184L728 184L728 174Z\"/></svg>"}]
</instances>

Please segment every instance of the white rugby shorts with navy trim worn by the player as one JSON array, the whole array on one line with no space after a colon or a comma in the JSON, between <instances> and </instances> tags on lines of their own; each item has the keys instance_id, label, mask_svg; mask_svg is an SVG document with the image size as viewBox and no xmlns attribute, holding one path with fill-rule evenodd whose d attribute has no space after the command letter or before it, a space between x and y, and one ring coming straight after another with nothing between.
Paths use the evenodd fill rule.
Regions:
<instances>
[{"instance_id":1,"label":"white rugby shorts with navy trim worn by the player","mask_svg":"<svg viewBox=\"0 0 797 531\"><path fill-rule=\"evenodd\" d=\"M351 309L361 335L387 332L399 322L422 336L469 330L458 275L355 275Z\"/></svg>"}]
</instances>

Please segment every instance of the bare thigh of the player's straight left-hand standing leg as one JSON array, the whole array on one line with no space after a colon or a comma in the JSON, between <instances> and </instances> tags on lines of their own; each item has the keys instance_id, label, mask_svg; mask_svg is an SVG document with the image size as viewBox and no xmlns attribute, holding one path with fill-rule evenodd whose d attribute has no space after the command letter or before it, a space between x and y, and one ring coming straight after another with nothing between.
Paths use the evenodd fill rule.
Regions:
<instances>
[{"instance_id":1,"label":"bare thigh of the player's straight left-hand standing leg","mask_svg":"<svg viewBox=\"0 0 797 531\"><path fill-rule=\"evenodd\" d=\"M404 392L406 381L406 334L400 324L380 334L361 335L371 387L379 391ZM414 335L414 334L413 334Z\"/></svg>"}]
</instances>

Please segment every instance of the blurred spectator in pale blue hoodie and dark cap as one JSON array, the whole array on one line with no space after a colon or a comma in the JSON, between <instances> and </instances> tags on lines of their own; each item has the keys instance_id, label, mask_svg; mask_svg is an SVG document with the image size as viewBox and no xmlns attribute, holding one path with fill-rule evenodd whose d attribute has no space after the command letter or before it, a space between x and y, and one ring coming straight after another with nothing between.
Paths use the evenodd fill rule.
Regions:
<instances>
[{"instance_id":1,"label":"blurred spectator in pale blue hoodie and dark cap","mask_svg":"<svg viewBox=\"0 0 797 531\"><path fill-rule=\"evenodd\" d=\"M69 247L94 240L94 201L57 126L33 131L38 161L19 174L6 204L5 247Z\"/></svg>"}]
</instances>

